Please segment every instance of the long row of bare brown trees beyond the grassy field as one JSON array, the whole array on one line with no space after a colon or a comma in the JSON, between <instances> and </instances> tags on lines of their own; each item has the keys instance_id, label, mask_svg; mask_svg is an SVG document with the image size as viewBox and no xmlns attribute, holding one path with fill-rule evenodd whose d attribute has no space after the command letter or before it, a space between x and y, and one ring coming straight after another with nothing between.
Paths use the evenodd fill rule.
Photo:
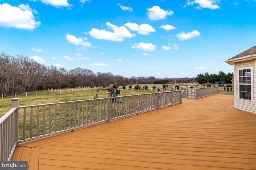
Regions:
<instances>
[{"instance_id":1,"label":"long row of bare brown trees beyond the grassy field","mask_svg":"<svg viewBox=\"0 0 256 170\"><path fill-rule=\"evenodd\" d=\"M116 84L153 84L161 78L149 77L123 77L111 72L96 72L86 68L66 70L56 66L45 66L24 55L11 56L0 53L0 94L4 96L47 90L48 88L75 88L77 86L93 87ZM165 78L169 83L195 82L194 78Z\"/></svg>"}]
</instances>

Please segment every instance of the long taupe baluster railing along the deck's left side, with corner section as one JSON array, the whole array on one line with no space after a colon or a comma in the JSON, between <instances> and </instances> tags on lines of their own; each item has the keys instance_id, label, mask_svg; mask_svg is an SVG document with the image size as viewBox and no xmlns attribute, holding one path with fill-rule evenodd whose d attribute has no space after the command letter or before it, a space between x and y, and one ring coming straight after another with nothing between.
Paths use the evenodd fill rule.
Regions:
<instances>
[{"instance_id":1,"label":"long taupe baluster railing along the deck's left side, with corner section","mask_svg":"<svg viewBox=\"0 0 256 170\"><path fill-rule=\"evenodd\" d=\"M181 90L117 97L107 92L106 98L32 106L18 106L14 99L17 106L0 119L0 160L10 160L19 142L171 106L181 96Z\"/></svg>"}]
</instances>

